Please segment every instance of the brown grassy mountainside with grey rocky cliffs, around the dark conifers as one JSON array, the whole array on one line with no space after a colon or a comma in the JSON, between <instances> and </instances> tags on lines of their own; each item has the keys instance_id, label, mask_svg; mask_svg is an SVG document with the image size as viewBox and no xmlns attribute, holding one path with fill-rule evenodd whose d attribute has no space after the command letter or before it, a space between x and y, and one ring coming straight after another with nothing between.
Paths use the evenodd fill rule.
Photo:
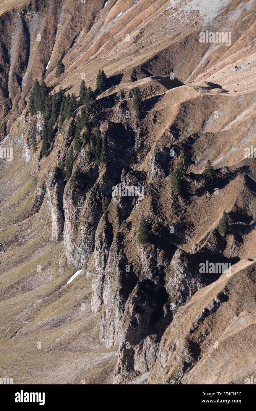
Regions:
<instances>
[{"instance_id":1,"label":"brown grassy mountainside with grey rocky cliffs, around the dark conifers","mask_svg":"<svg viewBox=\"0 0 256 411\"><path fill-rule=\"evenodd\" d=\"M256 166L244 150L255 143L256 6L197 3L33 0L0 16L1 147L13 148L12 162L1 159L1 304L20 304L2 330L14 331L26 313L24 346L38 332L49 356L79 352L79 372L65 355L70 383L94 381L102 358L101 383L232 384L253 372L239 364L255 358ZM231 44L199 42L200 32L224 28ZM65 73L56 78L59 60ZM75 143L81 79L95 90L99 69L108 86L96 92L81 136L99 126L104 161L84 155L90 138L78 152ZM78 102L71 118L54 124L47 156L46 120L28 104L35 79L52 96L61 86ZM72 176L77 167L80 173L75 187L65 176L70 147ZM185 175L175 193L180 159ZM207 160L215 169L210 188ZM143 196L113 196L119 185L143 187ZM223 211L226 237L217 230ZM140 243L143 218L149 238ZM22 247L17 258L14 247ZM201 273L206 261L230 264L231 275ZM67 383L54 364L52 381Z\"/></svg>"}]
</instances>

